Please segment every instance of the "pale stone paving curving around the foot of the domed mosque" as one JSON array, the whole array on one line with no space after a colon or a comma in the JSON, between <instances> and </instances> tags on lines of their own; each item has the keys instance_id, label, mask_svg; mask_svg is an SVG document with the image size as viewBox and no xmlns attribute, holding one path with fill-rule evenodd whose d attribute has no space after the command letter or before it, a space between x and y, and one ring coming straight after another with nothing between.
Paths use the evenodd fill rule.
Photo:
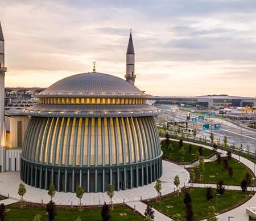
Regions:
<instances>
[{"instance_id":1,"label":"pale stone paving curving around the foot of the domed mosque","mask_svg":"<svg viewBox=\"0 0 256 221\"><path fill-rule=\"evenodd\" d=\"M174 177L179 175L180 183L186 185L189 181L189 173L179 165L174 163L163 161L163 175L162 180L162 194L168 194L174 191ZM10 198L19 200L18 186L20 180L19 172L4 172L0 173L0 194L6 196L9 194ZM146 186L140 186L129 190L121 190L115 192L113 197L114 203L123 203L130 201L140 201L142 199L149 199L156 197L155 183L148 184ZM27 193L24 196L24 200L34 203L48 203L50 197L47 194L47 190L35 188L26 185ZM56 192L54 201L57 205L78 205L79 199L75 193ZM110 199L106 193L85 193L82 198L83 205L102 205L104 202L110 203Z\"/></svg>"}]
</instances>

